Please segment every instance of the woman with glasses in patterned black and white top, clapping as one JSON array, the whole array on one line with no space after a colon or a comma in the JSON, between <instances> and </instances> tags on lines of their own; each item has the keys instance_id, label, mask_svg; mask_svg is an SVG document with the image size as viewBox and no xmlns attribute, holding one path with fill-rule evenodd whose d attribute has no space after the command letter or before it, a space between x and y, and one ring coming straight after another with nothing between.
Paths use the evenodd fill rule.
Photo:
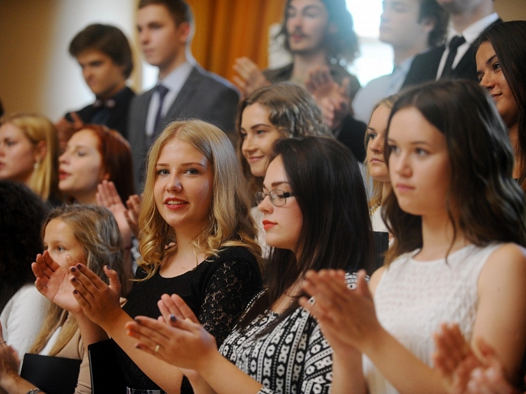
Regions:
<instances>
[{"instance_id":1,"label":"woman with glasses in patterned black and white top, clapping","mask_svg":"<svg viewBox=\"0 0 526 394\"><path fill-rule=\"evenodd\" d=\"M146 317L127 323L138 348L194 370L185 373L196 393L329 393L331 388L332 349L298 299L309 269L345 269L352 286L355 272L371 262L371 222L358 163L333 139L278 140L263 190L259 209L272 246L268 288L251 302L219 352L177 296L173 314L164 315L168 324ZM349 393L364 393L361 356L353 356L355 369L345 371Z\"/></svg>"}]
</instances>

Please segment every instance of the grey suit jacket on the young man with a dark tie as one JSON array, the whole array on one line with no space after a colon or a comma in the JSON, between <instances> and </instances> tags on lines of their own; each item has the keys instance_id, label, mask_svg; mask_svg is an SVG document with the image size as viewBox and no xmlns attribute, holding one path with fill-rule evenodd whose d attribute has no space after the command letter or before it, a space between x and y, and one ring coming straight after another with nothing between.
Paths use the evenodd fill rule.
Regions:
<instances>
[{"instance_id":1,"label":"grey suit jacket on the young man with a dark tie","mask_svg":"<svg viewBox=\"0 0 526 394\"><path fill-rule=\"evenodd\" d=\"M153 91L152 88L136 96L129 110L128 140L132 146L134 181L140 192L149 149L146 146L146 118ZM233 84L195 65L155 134L171 121L201 119L216 125L231 139L235 138L238 103L239 93Z\"/></svg>"}]
</instances>

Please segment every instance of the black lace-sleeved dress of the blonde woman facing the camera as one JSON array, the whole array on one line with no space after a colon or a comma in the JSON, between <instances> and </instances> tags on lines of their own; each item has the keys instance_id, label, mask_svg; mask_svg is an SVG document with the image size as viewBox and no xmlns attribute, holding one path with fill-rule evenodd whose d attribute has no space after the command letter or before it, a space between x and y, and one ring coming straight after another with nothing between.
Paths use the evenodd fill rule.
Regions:
<instances>
[{"instance_id":1,"label":"black lace-sleeved dress of the blonde woman facing the camera","mask_svg":"<svg viewBox=\"0 0 526 394\"><path fill-rule=\"evenodd\" d=\"M145 276L139 267L136 277ZM226 247L217 257L201 262L183 275L163 278L157 272L149 280L135 282L123 310L132 318L143 315L156 319L160 316L157 301L161 295L177 293L220 346L261 288L261 273L253 254L244 247ZM138 389L133 392L160 390L123 350L115 347L127 386ZM183 393L192 393L186 378L181 386Z\"/></svg>"}]
</instances>

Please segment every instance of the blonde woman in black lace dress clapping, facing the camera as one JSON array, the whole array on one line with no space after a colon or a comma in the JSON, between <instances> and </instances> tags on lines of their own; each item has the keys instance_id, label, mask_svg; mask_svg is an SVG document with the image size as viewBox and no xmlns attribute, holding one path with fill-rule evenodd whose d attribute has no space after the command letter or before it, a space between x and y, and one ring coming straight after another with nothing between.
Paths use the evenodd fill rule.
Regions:
<instances>
[{"instance_id":1,"label":"blonde woman in black lace dress clapping, facing the camera","mask_svg":"<svg viewBox=\"0 0 526 394\"><path fill-rule=\"evenodd\" d=\"M136 349L125 323L157 318L158 301L177 293L222 343L262 288L260 247L249 194L227 136L202 121L173 122L153 144L139 217L142 256L127 303L116 274L105 285L84 265L71 268L75 298L118 345L128 393L188 393L181 371Z\"/></svg>"}]
</instances>

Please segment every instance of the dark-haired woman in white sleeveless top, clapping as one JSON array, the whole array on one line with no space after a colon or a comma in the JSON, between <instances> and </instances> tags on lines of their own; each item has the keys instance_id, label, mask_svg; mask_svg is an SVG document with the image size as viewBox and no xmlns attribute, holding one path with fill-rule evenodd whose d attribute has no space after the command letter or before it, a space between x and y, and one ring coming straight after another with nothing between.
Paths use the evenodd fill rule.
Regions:
<instances>
[{"instance_id":1,"label":"dark-haired woman in white sleeveless top, clapping","mask_svg":"<svg viewBox=\"0 0 526 394\"><path fill-rule=\"evenodd\" d=\"M304 288L316 302L301 305L339 360L355 349L366 355L371 394L447 393L431 369L432 335L451 321L468 341L484 338L517 378L526 345L526 202L489 95L467 81L404 93L390 115L386 160L395 241L371 293L363 278L351 292L341 273L312 272Z\"/></svg>"}]
</instances>

